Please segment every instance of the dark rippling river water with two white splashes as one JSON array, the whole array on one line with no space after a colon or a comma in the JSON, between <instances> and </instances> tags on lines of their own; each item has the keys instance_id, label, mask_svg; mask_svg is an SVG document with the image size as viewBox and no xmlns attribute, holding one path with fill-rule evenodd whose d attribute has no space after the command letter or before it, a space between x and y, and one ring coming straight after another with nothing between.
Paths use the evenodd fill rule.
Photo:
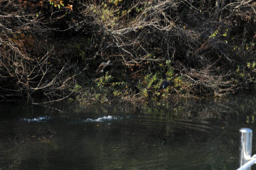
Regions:
<instances>
[{"instance_id":1,"label":"dark rippling river water with two white splashes","mask_svg":"<svg viewBox=\"0 0 256 170\"><path fill-rule=\"evenodd\" d=\"M255 106L248 95L136 107L0 103L0 170L237 169L239 129L256 133Z\"/></svg>"}]
</instances>

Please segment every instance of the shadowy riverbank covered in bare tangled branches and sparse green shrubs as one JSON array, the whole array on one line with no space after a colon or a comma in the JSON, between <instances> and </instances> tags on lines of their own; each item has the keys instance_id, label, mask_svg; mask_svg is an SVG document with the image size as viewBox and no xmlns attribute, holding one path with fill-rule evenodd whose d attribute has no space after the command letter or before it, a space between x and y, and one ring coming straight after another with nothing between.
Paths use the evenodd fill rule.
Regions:
<instances>
[{"instance_id":1,"label":"shadowy riverbank covered in bare tangled branches and sparse green shrubs","mask_svg":"<svg viewBox=\"0 0 256 170\"><path fill-rule=\"evenodd\" d=\"M255 91L255 2L1 1L0 99L32 103ZM99 64L111 60L107 73ZM168 81L167 87L161 83ZM161 85L161 86L160 86Z\"/></svg>"}]
</instances>

